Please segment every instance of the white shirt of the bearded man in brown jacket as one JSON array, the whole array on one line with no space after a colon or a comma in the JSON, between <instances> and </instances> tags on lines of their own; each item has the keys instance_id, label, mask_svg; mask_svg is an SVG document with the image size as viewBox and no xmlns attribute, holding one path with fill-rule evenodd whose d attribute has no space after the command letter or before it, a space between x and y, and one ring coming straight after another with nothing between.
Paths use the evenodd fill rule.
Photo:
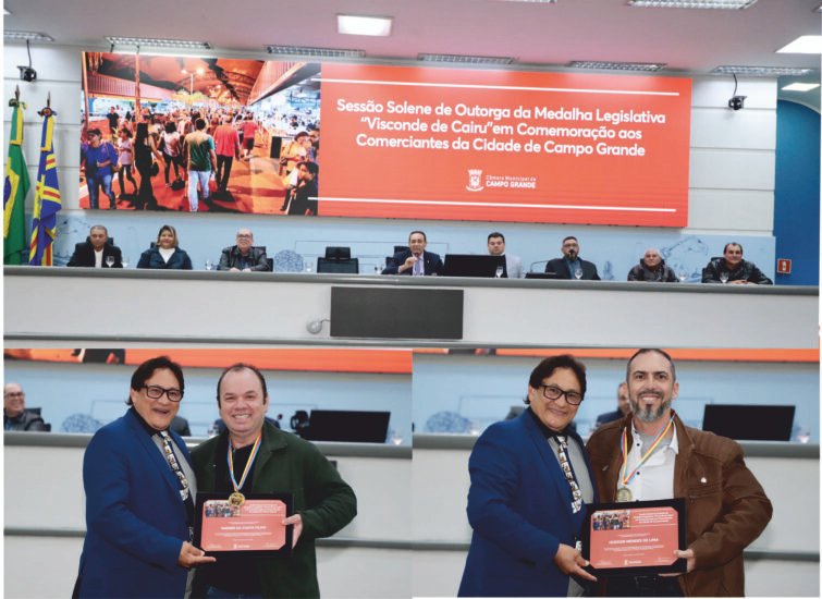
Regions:
<instances>
[{"instance_id":1,"label":"white shirt of the bearded man in brown jacket","mask_svg":"<svg viewBox=\"0 0 822 599\"><path fill-rule=\"evenodd\" d=\"M672 427L674 435L671 443L661 449L659 445L639 468L634 478L628 482L628 489L634 501L652 501L654 499L672 499L674 497L674 462L679 453L679 442L676 437L676 427ZM628 449L627 474L634 472L642 456L642 439L639 432L631 426L634 445ZM663 441L664 442L664 441ZM619 469L619 479L616 488L623 487L623 472Z\"/></svg>"}]
</instances>

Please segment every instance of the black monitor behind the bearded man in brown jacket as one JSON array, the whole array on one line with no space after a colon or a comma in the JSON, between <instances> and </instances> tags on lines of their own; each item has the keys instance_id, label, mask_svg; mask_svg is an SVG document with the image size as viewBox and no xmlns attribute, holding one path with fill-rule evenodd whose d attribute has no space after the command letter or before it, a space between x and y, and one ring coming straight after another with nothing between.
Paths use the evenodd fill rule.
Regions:
<instances>
[{"instance_id":1,"label":"black monitor behind the bearded man in brown jacket","mask_svg":"<svg viewBox=\"0 0 822 599\"><path fill-rule=\"evenodd\" d=\"M790 441L794 405L706 404L702 430L747 441Z\"/></svg>"}]
</instances>

